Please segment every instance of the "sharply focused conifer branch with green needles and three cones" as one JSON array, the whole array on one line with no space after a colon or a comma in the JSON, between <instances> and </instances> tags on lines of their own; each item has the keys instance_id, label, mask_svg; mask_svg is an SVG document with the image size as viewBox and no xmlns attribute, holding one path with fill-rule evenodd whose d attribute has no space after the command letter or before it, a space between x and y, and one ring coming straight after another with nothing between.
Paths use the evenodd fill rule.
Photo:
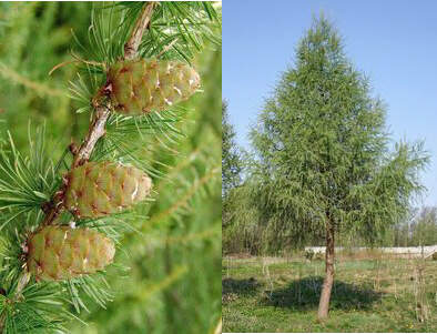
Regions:
<instances>
[{"instance_id":1,"label":"sharply focused conifer branch with green needles and three cones","mask_svg":"<svg viewBox=\"0 0 437 334\"><path fill-rule=\"evenodd\" d=\"M79 312L89 300L111 300L105 270L118 266L123 237L140 233L133 224L145 220L144 200L159 196L153 183L169 171L156 165L183 135L179 102L202 82L193 58L206 40L220 43L207 2L105 3L91 18L89 42L77 39L85 58L73 52L70 61L79 65L70 88L78 112L91 118L83 140L58 160L43 128L29 126L28 154L9 133L1 142L2 333L65 332L77 318L70 305ZM156 148L167 155L155 156Z\"/></svg>"}]
</instances>

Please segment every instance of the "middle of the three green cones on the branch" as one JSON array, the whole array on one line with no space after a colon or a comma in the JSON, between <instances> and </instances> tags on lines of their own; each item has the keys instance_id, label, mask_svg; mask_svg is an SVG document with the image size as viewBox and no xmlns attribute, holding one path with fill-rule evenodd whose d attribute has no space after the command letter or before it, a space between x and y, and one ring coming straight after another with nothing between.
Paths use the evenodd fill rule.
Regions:
<instances>
[{"instance_id":1,"label":"middle of the three green cones on the branch","mask_svg":"<svg viewBox=\"0 0 437 334\"><path fill-rule=\"evenodd\" d=\"M67 180L64 206L78 219L120 212L145 200L152 189L143 171L114 162L87 162Z\"/></svg>"}]
</instances>

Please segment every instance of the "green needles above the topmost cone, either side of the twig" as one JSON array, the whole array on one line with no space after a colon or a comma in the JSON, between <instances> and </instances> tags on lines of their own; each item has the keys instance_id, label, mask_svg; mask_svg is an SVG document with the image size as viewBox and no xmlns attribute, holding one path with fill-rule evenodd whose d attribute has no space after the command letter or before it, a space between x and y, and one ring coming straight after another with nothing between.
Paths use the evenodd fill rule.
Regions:
<instances>
[{"instance_id":1,"label":"green needles above the topmost cone, either side of the twig","mask_svg":"<svg viewBox=\"0 0 437 334\"><path fill-rule=\"evenodd\" d=\"M94 45L89 53L90 59L109 65L123 57L122 41L132 31L143 4L120 2L115 6L96 6L92 17L94 29L89 34L90 45ZM221 43L221 36L216 33L220 28L221 18L212 2L157 2L138 53L140 58L162 54L163 59L190 62L204 49L205 42Z\"/></svg>"}]
</instances>

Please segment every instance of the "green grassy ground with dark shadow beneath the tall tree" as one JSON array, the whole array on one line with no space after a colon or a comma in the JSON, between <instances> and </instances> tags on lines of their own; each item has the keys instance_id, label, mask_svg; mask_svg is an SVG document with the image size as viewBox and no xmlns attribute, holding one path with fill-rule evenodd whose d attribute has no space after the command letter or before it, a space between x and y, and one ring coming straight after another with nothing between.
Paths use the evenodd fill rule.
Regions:
<instances>
[{"instance_id":1,"label":"green grassy ground with dark shadow beneath the tall tree","mask_svg":"<svg viewBox=\"0 0 437 334\"><path fill-rule=\"evenodd\" d=\"M417 260L336 262L329 318L316 321L322 261L225 257L223 332L437 332L437 261L426 261L425 298L416 297ZM420 321L420 310L427 320Z\"/></svg>"}]
</instances>

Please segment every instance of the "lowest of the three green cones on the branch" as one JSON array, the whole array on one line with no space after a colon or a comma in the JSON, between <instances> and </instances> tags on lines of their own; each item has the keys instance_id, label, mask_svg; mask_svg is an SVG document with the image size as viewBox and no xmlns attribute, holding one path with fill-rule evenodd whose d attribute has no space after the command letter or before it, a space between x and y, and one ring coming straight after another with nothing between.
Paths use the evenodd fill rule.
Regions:
<instances>
[{"instance_id":1,"label":"lowest of the three green cones on the branch","mask_svg":"<svg viewBox=\"0 0 437 334\"><path fill-rule=\"evenodd\" d=\"M58 281L92 274L114 257L113 242L89 229L45 226L28 240L28 271L37 281Z\"/></svg>"}]
</instances>

